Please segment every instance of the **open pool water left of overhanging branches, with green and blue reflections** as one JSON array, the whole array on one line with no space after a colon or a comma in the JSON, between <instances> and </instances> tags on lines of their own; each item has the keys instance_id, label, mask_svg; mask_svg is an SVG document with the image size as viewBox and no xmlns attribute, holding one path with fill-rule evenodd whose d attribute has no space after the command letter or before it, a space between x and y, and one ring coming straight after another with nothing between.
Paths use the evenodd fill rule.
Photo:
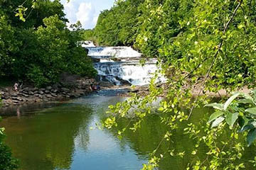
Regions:
<instances>
[{"instance_id":1,"label":"open pool water left of overhanging branches, with green and blue reflections","mask_svg":"<svg viewBox=\"0 0 256 170\"><path fill-rule=\"evenodd\" d=\"M134 150L128 145L121 149L110 132L95 129L107 106L123 99L94 94L70 103L1 112L6 143L22 170L140 169L146 161Z\"/></svg>"}]
</instances>

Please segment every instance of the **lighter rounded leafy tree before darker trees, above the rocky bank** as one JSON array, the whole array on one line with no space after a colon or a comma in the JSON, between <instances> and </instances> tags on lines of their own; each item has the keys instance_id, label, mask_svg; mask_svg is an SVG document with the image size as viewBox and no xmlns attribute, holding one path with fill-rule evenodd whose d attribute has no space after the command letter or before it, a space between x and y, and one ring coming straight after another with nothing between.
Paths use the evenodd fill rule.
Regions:
<instances>
[{"instance_id":1,"label":"lighter rounded leafy tree before darker trees, above the rocky bank","mask_svg":"<svg viewBox=\"0 0 256 170\"><path fill-rule=\"evenodd\" d=\"M46 27L36 30L37 50L36 61L30 62L28 78L38 86L58 81L62 72L93 77L96 72L92 67L86 51L78 45L78 36L65 28L58 16L44 20Z\"/></svg>"}]
</instances>

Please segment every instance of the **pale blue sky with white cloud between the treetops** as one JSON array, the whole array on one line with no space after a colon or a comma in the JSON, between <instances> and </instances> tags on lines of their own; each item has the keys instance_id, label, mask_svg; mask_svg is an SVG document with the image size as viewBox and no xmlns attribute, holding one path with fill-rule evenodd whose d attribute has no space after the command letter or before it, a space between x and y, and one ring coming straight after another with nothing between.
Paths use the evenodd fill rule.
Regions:
<instances>
[{"instance_id":1,"label":"pale blue sky with white cloud between the treetops","mask_svg":"<svg viewBox=\"0 0 256 170\"><path fill-rule=\"evenodd\" d=\"M110 9L114 0L61 0L70 24L80 21L82 28L92 29L97 23L100 11Z\"/></svg>"}]
</instances>

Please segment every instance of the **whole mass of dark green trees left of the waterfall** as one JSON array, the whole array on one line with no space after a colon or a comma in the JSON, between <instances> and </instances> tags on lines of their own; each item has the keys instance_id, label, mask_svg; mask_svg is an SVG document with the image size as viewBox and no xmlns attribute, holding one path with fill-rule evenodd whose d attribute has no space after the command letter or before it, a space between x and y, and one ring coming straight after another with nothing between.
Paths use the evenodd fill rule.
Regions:
<instances>
[{"instance_id":1,"label":"whole mass of dark green trees left of the waterfall","mask_svg":"<svg viewBox=\"0 0 256 170\"><path fill-rule=\"evenodd\" d=\"M22 17L17 8L22 4ZM58 81L62 72L94 77L96 72L80 46L59 0L0 1L0 75L28 79L36 86ZM24 22L26 20L26 22Z\"/></svg>"}]
</instances>

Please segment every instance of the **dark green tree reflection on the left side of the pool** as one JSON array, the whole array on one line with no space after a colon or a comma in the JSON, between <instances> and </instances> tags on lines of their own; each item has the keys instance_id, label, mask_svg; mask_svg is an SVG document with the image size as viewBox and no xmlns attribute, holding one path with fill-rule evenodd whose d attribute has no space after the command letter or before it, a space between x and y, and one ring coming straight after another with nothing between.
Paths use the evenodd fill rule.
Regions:
<instances>
[{"instance_id":1,"label":"dark green tree reflection on the left side of the pool","mask_svg":"<svg viewBox=\"0 0 256 170\"><path fill-rule=\"evenodd\" d=\"M21 159L22 169L70 169L74 139L80 128L85 129L90 123L91 113L85 106L65 105L30 116L25 112L20 117L19 113L17 117L5 118L1 125L6 127L7 143ZM85 130L82 146L86 147L88 141Z\"/></svg>"}]
</instances>

